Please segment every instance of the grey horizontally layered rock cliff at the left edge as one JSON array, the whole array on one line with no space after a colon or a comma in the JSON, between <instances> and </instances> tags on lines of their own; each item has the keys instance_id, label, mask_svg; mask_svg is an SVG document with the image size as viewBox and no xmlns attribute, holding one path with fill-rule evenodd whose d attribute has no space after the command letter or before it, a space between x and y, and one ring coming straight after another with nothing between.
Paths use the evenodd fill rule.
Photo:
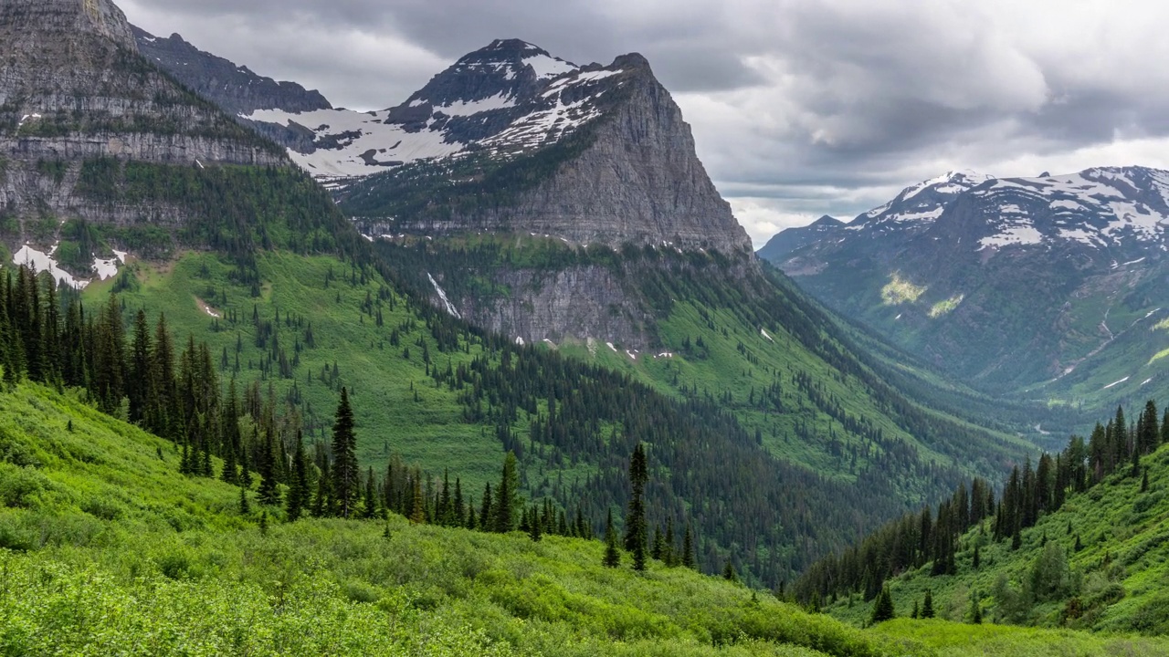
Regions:
<instances>
[{"instance_id":1,"label":"grey horizontally layered rock cliff at the left edge","mask_svg":"<svg viewBox=\"0 0 1169 657\"><path fill-rule=\"evenodd\" d=\"M129 161L288 160L143 58L125 15L108 0L0 2L4 247L79 284L108 275L116 258L108 248L94 253L99 240L84 224L134 227L127 229L137 235L181 226L188 208L173 202L112 203L92 193L109 182L98 164ZM54 257L63 237L79 250Z\"/></svg>"}]
</instances>

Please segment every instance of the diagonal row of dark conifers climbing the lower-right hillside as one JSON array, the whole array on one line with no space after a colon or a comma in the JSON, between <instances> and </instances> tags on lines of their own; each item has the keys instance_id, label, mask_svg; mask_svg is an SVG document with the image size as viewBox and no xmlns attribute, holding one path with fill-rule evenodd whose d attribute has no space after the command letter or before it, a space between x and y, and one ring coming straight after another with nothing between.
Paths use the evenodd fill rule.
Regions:
<instances>
[{"instance_id":1,"label":"diagonal row of dark conifers climbing the lower-right hillside","mask_svg":"<svg viewBox=\"0 0 1169 657\"><path fill-rule=\"evenodd\" d=\"M908 569L928 565L932 575L954 574L962 534L980 525L992 540L1018 548L1021 531L1059 510L1067 496L1116 472L1141 477L1140 457L1163 443L1169 443L1169 410L1158 415L1149 400L1136 422L1129 423L1118 407L1107 424L1097 423L1086 443L1072 436L1061 452L1043 454L1033 465L1028 458L1022 469L1012 468L998 499L984 479L974 479L969 487L962 484L935 511L926 507L902 516L859 544L817 561L798 580L795 594L804 602L856 593L870 600L880 594L886 580ZM976 568L977 546L970 559Z\"/></svg>"}]
</instances>

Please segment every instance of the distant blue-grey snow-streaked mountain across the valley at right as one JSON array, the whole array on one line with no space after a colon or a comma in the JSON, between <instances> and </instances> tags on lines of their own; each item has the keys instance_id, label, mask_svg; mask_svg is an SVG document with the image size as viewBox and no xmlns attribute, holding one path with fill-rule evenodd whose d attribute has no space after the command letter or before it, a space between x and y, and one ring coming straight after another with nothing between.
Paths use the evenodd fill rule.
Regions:
<instances>
[{"instance_id":1,"label":"distant blue-grey snow-streaked mountain across the valley at right","mask_svg":"<svg viewBox=\"0 0 1169 657\"><path fill-rule=\"evenodd\" d=\"M787 231L810 243L773 261L989 390L1112 403L1169 385L1167 226L1164 171L948 174L846 226Z\"/></svg>"}]
</instances>

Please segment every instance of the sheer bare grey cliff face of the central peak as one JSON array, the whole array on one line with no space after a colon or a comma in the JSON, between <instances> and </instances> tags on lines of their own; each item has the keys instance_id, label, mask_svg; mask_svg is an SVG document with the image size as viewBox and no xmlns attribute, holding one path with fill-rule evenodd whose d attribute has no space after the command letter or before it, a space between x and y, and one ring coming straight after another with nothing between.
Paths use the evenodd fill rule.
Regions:
<instances>
[{"instance_id":1,"label":"sheer bare grey cliff face of the central peak","mask_svg":"<svg viewBox=\"0 0 1169 657\"><path fill-rule=\"evenodd\" d=\"M403 215L407 231L537 233L576 243L750 250L747 233L694 152L690 126L638 55L618 58L623 97L595 119L584 146L514 201L456 209L443 217ZM554 146L566 147L566 146ZM371 184L376 184L371 181Z\"/></svg>"}]
</instances>

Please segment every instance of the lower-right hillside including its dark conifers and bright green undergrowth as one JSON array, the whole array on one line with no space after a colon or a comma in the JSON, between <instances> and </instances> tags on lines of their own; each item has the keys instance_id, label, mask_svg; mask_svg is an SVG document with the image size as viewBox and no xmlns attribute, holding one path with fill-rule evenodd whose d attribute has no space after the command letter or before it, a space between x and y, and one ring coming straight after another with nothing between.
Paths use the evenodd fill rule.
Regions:
<instances>
[{"instance_id":1,"label":"lower-right hillside including its dark conifers and bright green undergrowth","mask_svg":"<svg viewBox=\"0 0 1169 657\"><path fill-rule=\"evenodd\" d=\"M969 530L950 528L963 489L932 523L907 518L816 565L801 595L831 601L830 613L859 623L870 611L864 599L888 574L901 616L929 592L938 617L953 621L969 621L977 604L987 621L1165 634L1169 443L1151 402L1136 415L1132 426L1119 416L1086 442L1073 437L1058 458L1016 471L994 506L976 512L971 491ZM948 547L943 532L953 532Z\"/></svg>"}]
</instances>

